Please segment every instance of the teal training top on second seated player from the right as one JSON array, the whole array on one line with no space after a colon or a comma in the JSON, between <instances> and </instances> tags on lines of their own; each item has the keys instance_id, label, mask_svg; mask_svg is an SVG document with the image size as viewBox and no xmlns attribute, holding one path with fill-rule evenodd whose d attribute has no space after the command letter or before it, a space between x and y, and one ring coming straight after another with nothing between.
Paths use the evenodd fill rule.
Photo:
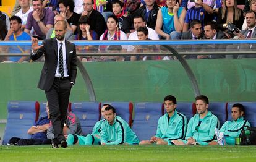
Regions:
<instances>
[{"instance_id":1,"label":"teal training top on second seated player from the right","mask_svg":"<svg viewBox=\"0 0 256 162\"><path fill-rule=\"evenodd\" d=\"M186 140L193 137L197 142L211 142L215 140L215 128L218 126L218 118L208 111L199 125L199 114L195 114L187 124Z\"/></svg>"}]
</instances>

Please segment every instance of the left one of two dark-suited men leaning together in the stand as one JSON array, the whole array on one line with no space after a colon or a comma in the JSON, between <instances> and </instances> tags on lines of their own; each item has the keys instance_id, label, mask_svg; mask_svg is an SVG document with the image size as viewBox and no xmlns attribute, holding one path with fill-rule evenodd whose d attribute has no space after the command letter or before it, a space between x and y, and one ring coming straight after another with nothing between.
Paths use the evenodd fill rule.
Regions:
<instances>
[{"instance_id":1,"label":"left one of two dark-suited men leaning together in the stand","mask_svg":"<svg viewBox=\"0 0 256 162\"><path fill-rule=\"evenodd\" d=\"M202 25L201 22L197 19L192 20L190 22L190 30L187 32L183 32L181 36L181 40L198 40L203 37ZM182 46L182 48L185 48ZM199 51L200 46L198 45L189 45L187 46L187 51ZM197 59L197 55L186 55L185 59Z\"/></svg>"}]
</instances>

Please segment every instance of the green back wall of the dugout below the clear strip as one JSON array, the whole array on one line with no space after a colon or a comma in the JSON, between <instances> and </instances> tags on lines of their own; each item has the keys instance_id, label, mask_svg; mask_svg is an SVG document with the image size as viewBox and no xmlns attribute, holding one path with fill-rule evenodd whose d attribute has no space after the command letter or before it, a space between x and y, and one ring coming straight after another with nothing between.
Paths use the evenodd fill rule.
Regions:
<instances>
[{"instance_id":1,"label":"green back wall of the dugout below the clear strip","mask_svg":"<svg viewBox=\"0 0 256 162\"><path fill-rule=\"evenodd\" d=\"M256 59L189 60L202 94L210 101L255 101ZM98 101L162 101L173 94L178 101L194 101L194 92L179 61L85 62ZM42 63L0 64L0 119L7 101L45 101L36 88ZM70 101L88 101L80 72Z\"/></svg>"}]
</instances>

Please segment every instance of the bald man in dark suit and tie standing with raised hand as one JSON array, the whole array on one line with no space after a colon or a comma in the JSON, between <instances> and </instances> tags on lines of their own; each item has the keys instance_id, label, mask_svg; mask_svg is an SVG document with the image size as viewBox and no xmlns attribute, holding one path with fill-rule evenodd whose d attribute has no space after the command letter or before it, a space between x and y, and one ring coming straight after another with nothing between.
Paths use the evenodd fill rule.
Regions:
<instances>
[{"instance_id":1,"label":"bald man in dark suit and tie standing with raised hand","mask_svg":"<svg viewBox=\"0 0 256 162\"><path fill-rule=\"evenodd\" d=\"M62 130L67 116L69 95L77 75L77 56L75 45L65 40L67 25L58 21L54 25L55 37L38 45L36 38L32 39L30 58L36 60L45 54L45 64L41 70L38 88L45 90L49 104L49 113L54 129L52 147L67 147Z\"/></svg>"}]
</instances>

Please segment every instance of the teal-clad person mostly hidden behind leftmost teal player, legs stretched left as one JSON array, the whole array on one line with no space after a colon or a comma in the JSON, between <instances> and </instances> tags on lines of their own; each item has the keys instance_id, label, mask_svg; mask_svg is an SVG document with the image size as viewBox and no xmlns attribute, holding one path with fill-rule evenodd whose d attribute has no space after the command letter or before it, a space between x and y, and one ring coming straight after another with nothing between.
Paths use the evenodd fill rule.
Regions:
<instances>
[{"instance_id":1,"label":"teal-clad person mostly hidden behind leftmost teal player, legs stretched left","mask_svg":"<svg viewBox=\"0 0 256 162\"><path fill-rule=\"evenodd\" d=\"M100 145L101 124L105 121L105 108L108 106L109 104L103 104L101 108L101 117L103 119L96 122L92 134L87 134L86 136L69 134L67 135L67 145Z\"/></svg>"}]
</instances>

